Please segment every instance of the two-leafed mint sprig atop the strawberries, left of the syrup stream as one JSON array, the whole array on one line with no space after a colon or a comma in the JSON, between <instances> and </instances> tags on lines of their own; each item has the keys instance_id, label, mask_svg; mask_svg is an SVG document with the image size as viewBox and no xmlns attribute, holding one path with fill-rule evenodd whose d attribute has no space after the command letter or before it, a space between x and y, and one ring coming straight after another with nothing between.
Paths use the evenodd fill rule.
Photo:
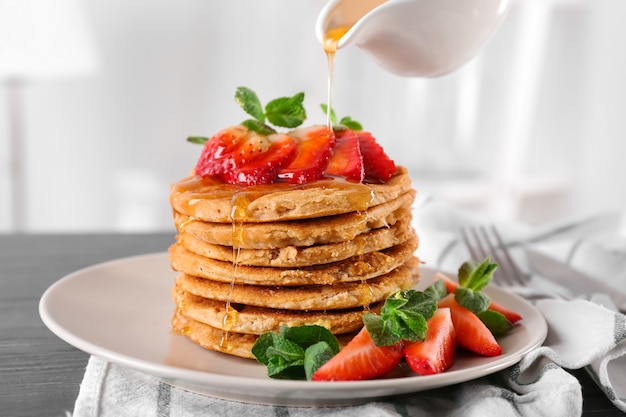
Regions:
<instances>
[{"instance_id":1,"label":"two-leafed mint sprig atop the strawberries, left of the syrup stream","mask_svg":"<svg viewBox=\"0 0 626 417\"><path fill-rule=\"evenodd\" d=\"M246 120L242 125L255 132L267 135L276 133L276 130L267 125L294 128L306 120L304 109L304 93L300 92L293 97L279 97L267 103L265 108L257 94L248 87L238 87L235 92L235 101L253 119ZM266 123L267 122L267 123ZM269 132L269 133L268 133Z\"/></svg>"}]
</instances>

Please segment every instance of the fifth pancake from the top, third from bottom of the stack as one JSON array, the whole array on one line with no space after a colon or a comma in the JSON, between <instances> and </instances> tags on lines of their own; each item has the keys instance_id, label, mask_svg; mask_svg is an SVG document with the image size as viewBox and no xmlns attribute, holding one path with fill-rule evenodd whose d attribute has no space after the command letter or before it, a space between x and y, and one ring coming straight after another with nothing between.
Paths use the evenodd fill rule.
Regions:
<instances>
[{"instance_id":1,"label":"fifth pancake from the top, third from bottom of the stack","mask_svg":"<svg viewBox=\"0 0 626 417\"><path fill-rule=\"evenodd\" d=\"M297 287L230 285L180 274L176 283L199 297L265 308L333 310L368 306L406 290L419 280L418 260L412 258L388 274L363 282Z\"/></svg>"}]
</instances>

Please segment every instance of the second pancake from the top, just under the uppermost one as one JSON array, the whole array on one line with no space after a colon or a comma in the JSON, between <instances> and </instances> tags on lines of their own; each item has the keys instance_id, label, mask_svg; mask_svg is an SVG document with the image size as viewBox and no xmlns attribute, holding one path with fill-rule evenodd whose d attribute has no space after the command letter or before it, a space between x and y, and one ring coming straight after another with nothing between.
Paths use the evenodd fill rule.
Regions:
<instances>
[{"instance_id":1,"label":"second pancake from the top, just under the uppermost one","mask_svg":"<svg viewBox=\"0 0 626 417\"><path fill-rule=\"evenodd\" d=\"M245 223L233 241L232 223L205 222L174 212L177 230L189 233L207 243L237 246L243 249L274 249L285 246L312 246L345 242L361 233L395 224L411 216L415 191L409 190L387 203L365 212L351 212L306 220Z\"/></svg>"}]
</instances>

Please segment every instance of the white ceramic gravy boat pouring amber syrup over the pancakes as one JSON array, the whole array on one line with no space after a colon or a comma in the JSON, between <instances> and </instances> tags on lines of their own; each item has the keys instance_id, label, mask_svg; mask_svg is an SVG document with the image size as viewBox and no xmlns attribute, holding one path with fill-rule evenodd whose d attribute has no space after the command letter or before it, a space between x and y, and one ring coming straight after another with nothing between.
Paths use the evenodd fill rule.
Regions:
<instances>
[{"instance_id":1,"label":"white ceramic gravy boat pouring amber syrup over the pancakes","mask_svg":"<svg viewBox=\"0 0 626 417\"><path fill-rule=\"evenodd\" d=\"M498 28L511 0L331 0L316 35L349 26L337 49L354 44L383 68L437 77L469 61Z\"/></svg>"}]
</instances>

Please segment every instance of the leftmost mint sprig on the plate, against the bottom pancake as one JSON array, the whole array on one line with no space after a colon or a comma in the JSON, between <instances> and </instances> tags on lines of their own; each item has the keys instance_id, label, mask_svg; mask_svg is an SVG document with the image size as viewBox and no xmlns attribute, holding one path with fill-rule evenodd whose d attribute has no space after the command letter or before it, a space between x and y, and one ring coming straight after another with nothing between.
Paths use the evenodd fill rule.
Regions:
<instances>
[{"instance_id":1,"label":"leftmost mint sprig on the plate, against the bottom pancake","mask_svg":"<svg viewBox=\"0 0 626 417\"><path fill-rule=\"evenodd\" d=\"M267 375L275 379L310 380L337 352L337 338L317 325L282 326L280 333L264 333L252 346L254 357L267 367Z\"/></svg>"}]
</instances>

